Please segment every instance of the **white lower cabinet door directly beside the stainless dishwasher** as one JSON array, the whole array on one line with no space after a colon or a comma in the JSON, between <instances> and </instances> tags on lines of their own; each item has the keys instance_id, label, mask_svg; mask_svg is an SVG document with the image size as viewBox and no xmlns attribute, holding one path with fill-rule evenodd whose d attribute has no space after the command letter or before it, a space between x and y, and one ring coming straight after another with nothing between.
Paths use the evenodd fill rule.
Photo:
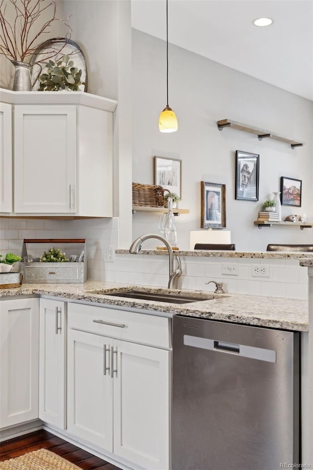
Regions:
<instances>
[{"instance_id":1,"label":"white lower cabinet door directly beside the stainless dishwasher","mask_svg":"<svg viewBox=\"0 0 313 470\"><path fill-rule=\"evenodd\" d=\"M145 469L169 469L171 352L114 340L113 452Z\"/></svg>"}]
</instances>

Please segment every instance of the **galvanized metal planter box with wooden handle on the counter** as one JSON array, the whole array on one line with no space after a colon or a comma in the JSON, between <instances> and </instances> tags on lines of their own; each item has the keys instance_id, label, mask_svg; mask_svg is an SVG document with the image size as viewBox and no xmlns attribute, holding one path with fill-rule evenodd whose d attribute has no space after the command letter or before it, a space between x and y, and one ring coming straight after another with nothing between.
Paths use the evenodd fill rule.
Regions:
<instances>
[{"instance_id":1,"label":"galvanized metal planter box with wooden handle on the counter","mask_svg":"<svg viewBox=\"0 0 313 470\"><path fill-rule=\"evenodd\" d=\"M28 259L26 243L61 244L80 243L83 245L84 260L80 262L44 263L24 261ZM66 248L65 248L66 251ZM67 257L69 254L67 253ZM24 239L22 249L22 275L24 283L80 283L87 281L86 241L80 239Z\"/></svg>"}]
</instances>

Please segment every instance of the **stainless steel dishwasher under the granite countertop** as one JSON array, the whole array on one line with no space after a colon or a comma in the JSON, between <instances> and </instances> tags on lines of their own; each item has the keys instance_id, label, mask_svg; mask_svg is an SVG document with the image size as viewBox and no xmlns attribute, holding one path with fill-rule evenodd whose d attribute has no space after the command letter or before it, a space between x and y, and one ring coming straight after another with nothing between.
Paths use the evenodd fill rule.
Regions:
<instances>
[{"instance_id":1,"label":"stainless steel dishwasher under the granite countertop","mask_svg":"<svg viewBox=\"0 0 313 470\"><path fill-rule=\"evenodd\" d=\"M172 470L299 463L299 333L173 317Z\"/></svg>"}]
</instances>

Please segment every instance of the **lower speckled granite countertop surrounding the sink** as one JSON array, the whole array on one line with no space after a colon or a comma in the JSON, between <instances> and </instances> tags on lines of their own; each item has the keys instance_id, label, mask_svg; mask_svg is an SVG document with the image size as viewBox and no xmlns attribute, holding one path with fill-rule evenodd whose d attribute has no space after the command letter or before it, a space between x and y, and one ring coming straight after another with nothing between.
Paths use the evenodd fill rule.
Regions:
<instances>
[{"instance_id":1,"label":"lower speckled granite countertop surrounding the sink","mask_svg":"<svg viewBox=\"0 0 313 470\"><path fill-rule=\"evenodd\" d=\"M313 263L312 263L313 265ZM308 331L308 301L280 297L265 297L241 294L213 294L207 291L178 290L180 295L197 295L199 302L169 304L123 297L103 296L90 293L93 290L115 291L122 288L164 293L166 288L121 284L117 282L87 281L83 284L23 284L14 289L1 289L0 297L24 295L46 295L80 300L103 305L117 305L142 309L146 313L171 317L173 314L222 320L245 325L263 326L294 331ZM206 300L205 300L206 299ZM208 300L211 299L211 300Z\"/></svg>"}]
</instances>

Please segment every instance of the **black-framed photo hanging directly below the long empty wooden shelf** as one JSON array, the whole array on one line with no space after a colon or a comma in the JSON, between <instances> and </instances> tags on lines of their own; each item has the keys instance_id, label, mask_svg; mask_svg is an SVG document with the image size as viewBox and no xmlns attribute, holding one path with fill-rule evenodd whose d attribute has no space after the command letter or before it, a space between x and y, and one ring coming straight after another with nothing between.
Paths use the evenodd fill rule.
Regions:
<instances>
[{"instance_id":1,"label":"black-framed photo hanging directly below the long empty wooden shelf","mask_svg":"<svg viewBox=\"0 0 313 470\"><path fill-rule=\"evenodd\" d=\"M236 199L259 200L259 155L236 150Z\"/></svg>"}]
</instances>

